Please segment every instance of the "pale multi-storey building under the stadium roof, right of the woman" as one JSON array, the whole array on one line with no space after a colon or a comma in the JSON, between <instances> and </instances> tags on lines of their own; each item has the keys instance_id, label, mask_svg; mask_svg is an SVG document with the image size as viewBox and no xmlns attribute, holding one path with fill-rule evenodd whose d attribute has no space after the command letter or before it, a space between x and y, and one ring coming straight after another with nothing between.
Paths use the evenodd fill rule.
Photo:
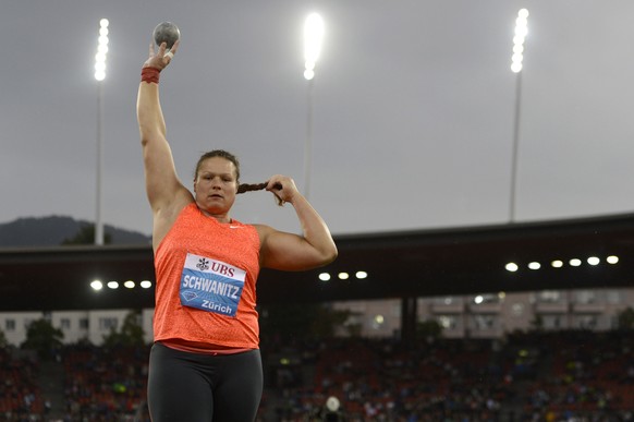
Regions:
<instances>
[{"instance_id":1,"label":"pale multi-storey building under the stadium roof, right of the woman","mask_svg":"<svg viewBox=\"0 0 634 422\"><path fill-rule=\"evenodd\" d=\"M618 314L634 303L634 289L546 290L524 293L419 298L418 321L437 321L446 338L501 338L505 333L617 327ZM394 337L400 333L401 300L334 302L354 313L341 335Z\"/></svg>"}]
</instances>

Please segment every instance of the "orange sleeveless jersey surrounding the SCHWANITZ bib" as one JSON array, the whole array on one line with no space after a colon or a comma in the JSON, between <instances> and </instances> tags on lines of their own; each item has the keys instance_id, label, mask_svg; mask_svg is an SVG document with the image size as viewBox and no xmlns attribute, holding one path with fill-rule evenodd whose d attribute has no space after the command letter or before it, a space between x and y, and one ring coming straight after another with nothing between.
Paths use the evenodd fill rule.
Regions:
<instances>
[{"instance_id":1,"label":"orange sleeveless jersey surrounding the SCHWANITZ bib","mask_svg":"<svg viewBox=\"0 0 634 422\"><path fill-rule=\"evenodd\" d=\"M244 287L234 316L183 305L187 256L225 263L244 270ZM222 265L224 266L224 265ZM205 267L207 268L207 267ZM204 215L195 203L187 205L155 253L156 308L154 339L230 348L258 348L258 314L255 285L259 274L259 236L253 226L233 220L221 224ZM217 290L215 290L217 291Z\"/></svg>"}]
</instances>

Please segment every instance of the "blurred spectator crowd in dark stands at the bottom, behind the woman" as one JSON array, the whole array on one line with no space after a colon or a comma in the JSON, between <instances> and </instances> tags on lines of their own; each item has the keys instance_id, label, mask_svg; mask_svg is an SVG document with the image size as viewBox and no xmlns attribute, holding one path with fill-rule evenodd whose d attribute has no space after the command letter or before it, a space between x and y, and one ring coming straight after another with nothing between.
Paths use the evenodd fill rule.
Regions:
<instances>
[{"instance_id":1,"label":"blurred spectator crowd in dark stands at the bottom, behind the woman","mask_svg":"<svg viewBox=\"0 0 634 422\"><path fill-rule=\"evenodd\" d=\"M503 340L263 340L259 421L634 421L634 333ZM149 421L149 346L64 346L63 414L50 419L33 353L0 348L0 421ZM338 409L326 409L329 398ZM339 406L340 403L340 406Z\"/></svg>"}]
</instances>

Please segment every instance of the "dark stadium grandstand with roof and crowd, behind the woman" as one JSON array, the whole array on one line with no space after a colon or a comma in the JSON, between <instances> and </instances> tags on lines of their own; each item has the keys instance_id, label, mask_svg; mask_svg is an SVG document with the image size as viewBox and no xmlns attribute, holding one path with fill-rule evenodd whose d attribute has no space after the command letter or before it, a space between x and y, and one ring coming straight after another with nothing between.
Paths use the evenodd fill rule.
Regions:
<instances>
[{"instance_id":1,"label":"dark stadium grandstand with roof and crowd, behind the woman","mask_svg":"<svg viewBox=\"0 0 634 422\"><path fill-rule=\"evenodd\" d=\"M325 268L263 272L258 420L633 420L633 222L337 237ZM0 420L149 421L153 274L147 245L1 250ZM345 319L288 335L291 302Z\"/></svg>"}]
</instances>

